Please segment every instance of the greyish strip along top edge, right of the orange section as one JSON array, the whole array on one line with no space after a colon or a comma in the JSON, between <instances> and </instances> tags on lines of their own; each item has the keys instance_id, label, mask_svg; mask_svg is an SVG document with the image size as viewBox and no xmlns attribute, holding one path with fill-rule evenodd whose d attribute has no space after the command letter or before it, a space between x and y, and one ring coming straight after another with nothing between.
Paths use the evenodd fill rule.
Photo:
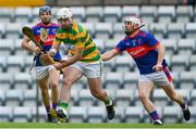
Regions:
<instances>
[{"instance_id":1,"label":"greyish strip along top edge, right of the orange section","mask_svg":"<svg viewBox=\"0 0 196 129\"><path fill-rule=\"evenodd\" d=\"M194 0L47 0L47 3L56 7L69 5L176 5L195 4Z\"/></svg>"}]
</instances>

